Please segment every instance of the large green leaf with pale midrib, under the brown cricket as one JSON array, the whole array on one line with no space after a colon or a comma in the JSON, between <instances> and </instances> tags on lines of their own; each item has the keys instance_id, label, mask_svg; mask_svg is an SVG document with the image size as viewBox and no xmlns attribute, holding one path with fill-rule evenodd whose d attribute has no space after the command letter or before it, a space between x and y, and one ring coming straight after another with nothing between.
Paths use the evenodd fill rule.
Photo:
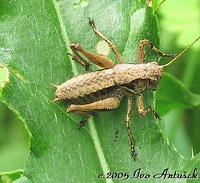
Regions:
<instances>
[{"instance_id":1,"label":"large green leaf with pale midrib, under the brown cricket","mask_svg":"<svg viewBox=\"0 0 200 183\"><path fill-rule=\"evenodd\" d=\"M18 114L30 134L26 168L15 182L115 181L106 178L109 172L121 172L124 179L139 181L133 173L140 168L152 181L160 181L153 175L166 168L170 173L192 173L200 168L199 156L192 160L181 157L163 139L153 115L140 117L135 105L131 129L138 155L134 161L124 123L125 98L119 108L91 118L81 130L77 127L83 116L66 113L65 103L51 102L55 90L49 83L60 84L85 72L66 54L71 52L69 43L77 41L95 51L100 40L87 17L117 45L124 60L133 62L139 40L149 39L159 46L151 7L136 0L21 0L2 4L0 53L1 63L9 69L9 82L1 90L1 100ZM150 50L146 56L148 61L158 58ZM109 57L116 60L112 53ZM153 106L152 92L144 93L144 103Z\"/></svg>"}]
</instances>

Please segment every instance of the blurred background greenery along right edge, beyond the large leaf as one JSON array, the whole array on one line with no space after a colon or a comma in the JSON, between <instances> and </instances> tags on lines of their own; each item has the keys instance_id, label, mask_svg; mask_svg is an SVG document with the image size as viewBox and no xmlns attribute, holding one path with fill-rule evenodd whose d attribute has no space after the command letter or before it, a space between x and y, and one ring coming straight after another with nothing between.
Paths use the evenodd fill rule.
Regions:
<instances>
[{"instance_id":1,"label":"blurred background greenery along right edge, beyond the large leaf","mask_svg":"<svg viewBox=\"0 0 200 183\"><path fill-rule=\"evenodd\" d=\"M190 3L189 3L190 2ZM180 50L188 46L192 40L200 35L200 4L199 1L180 1L174 3L171 0L165 1L158 10L158 23L160 25L160 42L161 50L168 53L178 53ZM177 12L178 10L178 12ZM193 13L190 13L190 12ZM199 97L193 94L200 94L200 43L196 43L182 57L170 67L166 68L166 72L181 81L183 87L191 93L184 96L182 103L176 103L180 93L176 93L172 87L169 94L173 95L170 101L171 109L164 112L165 116L161 123L165 126L169 141L172 142L181 154L189 158L191 151L194 154L200 152L200 136L199 136ZM163 62L161 62L163 63ZM169 84L168 86L172 86ZM162 88L162 83L160 88ZM185 89L184 89L185 90ZM188 93L188 91L186 91ZM194 98L193 98L194 97ZM159 97L157 110L166 109L165 102ZM174 103L174 104L173 104ZM159 107L163 105L163 107ZM173 107L174 106L174 107ZM173 109L174 108L174 109Z\"/></svg>"}]
</instances>

